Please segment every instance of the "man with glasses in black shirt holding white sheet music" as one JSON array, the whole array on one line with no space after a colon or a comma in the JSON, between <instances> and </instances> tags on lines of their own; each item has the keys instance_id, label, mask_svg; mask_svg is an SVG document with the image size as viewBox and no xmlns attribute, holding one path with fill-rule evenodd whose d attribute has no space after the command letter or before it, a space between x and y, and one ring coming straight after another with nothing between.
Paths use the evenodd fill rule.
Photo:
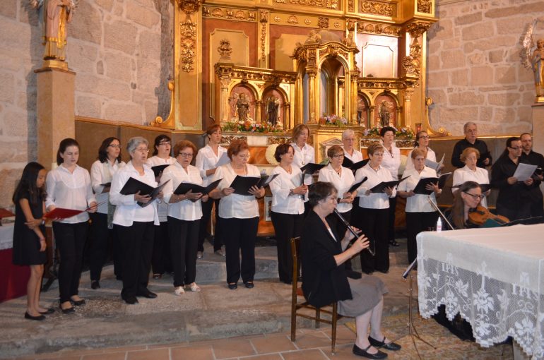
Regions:
<instances>
[{"instance_id":1,"label":"man with glasses in black shirt holding white sheet music","mask_svg":"<svg viewBox=\"0 0 544 360\"><path fill-rule=\"evenodd\" d=\"M514 177L520 162L528 164L528 160L521 158L522 152L521 140L516 137L508 138L506 149L491 167L491 186L499 189L497 214L504 215L511 221L531 217L533 179L518 181Z\"/></svg>"}]
</instances>

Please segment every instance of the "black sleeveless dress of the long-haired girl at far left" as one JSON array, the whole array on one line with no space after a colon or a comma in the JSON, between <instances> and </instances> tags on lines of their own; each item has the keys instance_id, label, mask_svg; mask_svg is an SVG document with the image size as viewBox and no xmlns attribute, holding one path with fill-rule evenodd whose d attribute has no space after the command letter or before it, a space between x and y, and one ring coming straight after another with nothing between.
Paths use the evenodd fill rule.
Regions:
<instances>
[{"instance_id":1,"label":"black sleeveless dress of the long-haired girl at far left","mask_svg":"<svg viewBox=\"0 0 544 360\"><path fill-rule=\"evenodd\" d=\"M30 204L32 216L41 219L43 216L42 200L36 204L30 203L30 196L27 191L20 194L19 199L27 199ZM26 217L19 201L15 204L15 227L13 228L13 264L15 265L41 265L47 261L45 251L40 251L40 238L34 230L28 229L25 225ZM42 234L45 236L45 227L40 225Z\"/></svg>"}]
</instances>

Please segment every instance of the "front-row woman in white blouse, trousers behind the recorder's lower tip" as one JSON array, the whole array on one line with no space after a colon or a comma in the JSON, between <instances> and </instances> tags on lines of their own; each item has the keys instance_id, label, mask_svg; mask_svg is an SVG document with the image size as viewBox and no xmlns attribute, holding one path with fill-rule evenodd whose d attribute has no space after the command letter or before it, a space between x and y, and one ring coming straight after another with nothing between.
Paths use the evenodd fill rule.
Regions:
<instances>
[{"instance_id":1,"label":"front-row woman in white blouse, trousers behind the recorder's lower tip","mask_svg":"<svg viewBox=\"0 0 544 360\"><path fill-rule=\"evenodd\" d=\"M374 247L376 255L370 256L368 251L361 253L361 269L367 274L374 270L379 272L389 271L389 245L387 231L389 229L389 199L396 196L396 189L385 188L383 193L372 193L371 188L383 181L394 181L396 177L389 170L382 167L382 159L386 151L379 143L372 143L368 147L368 164L355 172L355 182L367 177L367 181L357 189L359 196L360 219L356 223L361 224L361 229L370 241L370 247Z\"/></svg>"}]
</instances>

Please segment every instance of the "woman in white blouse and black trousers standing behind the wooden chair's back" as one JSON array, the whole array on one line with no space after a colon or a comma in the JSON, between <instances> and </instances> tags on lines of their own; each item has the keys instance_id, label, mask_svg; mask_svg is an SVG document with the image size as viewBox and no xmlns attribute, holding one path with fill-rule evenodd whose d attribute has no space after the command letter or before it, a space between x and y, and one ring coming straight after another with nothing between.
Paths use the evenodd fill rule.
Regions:
<instances>
[{"instance_id":1,"label":"woman in white blouse and black trousers standing behind the wooden chair's back","mask_svg":"<svg viewBox=\"0 0 544 360\"><path fill-rule=\"evenodd\" d=\"M271 218L278 247L278 272L280 281L290 284L292 280L292 258L290 239L302 234L304 221L304 194L308 186L302 184L302 172L292 164L295 150L290 144L276 148L274 158L280 164L271 176L278 174L270 183L272 192Z\"/></svg>"}]
</instances>

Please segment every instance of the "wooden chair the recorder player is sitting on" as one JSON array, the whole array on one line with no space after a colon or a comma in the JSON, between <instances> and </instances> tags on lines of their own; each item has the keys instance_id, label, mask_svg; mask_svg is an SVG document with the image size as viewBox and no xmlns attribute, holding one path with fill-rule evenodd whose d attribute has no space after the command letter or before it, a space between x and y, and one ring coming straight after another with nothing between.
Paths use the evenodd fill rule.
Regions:
<instances>
[{"instance_id":1,"label":"wooden chair the recorder player is sitting on","mask_svg":"<svg viewBox=\"0 0 544 360\"><path fill-rule=\"evenodd\" d=\"M331 311L325 310L323 308L316 308L308 304L307 301L299 303L297 301L297 296L301 296L304 299L304 294L302 294L302 287L298 287L298 253L300 248L300 237L295 237L291 239L291 256L292 256L292 291L291 291L291 341L295 342L296 332L297 332L297 316L302 318L307 318L315 321L315 328L319 329L319 323L331 324L331 352L334 354L336 350L336 323L339 318L342 316L338 315L337 306L338 304L333 302L331 304ZM315 311L315 316L309 316L304 313L297 312L302 308L309 308ZM321 318L321 313L326 313L331 316L331 320Z\"/></svg>"}]
</instances>

